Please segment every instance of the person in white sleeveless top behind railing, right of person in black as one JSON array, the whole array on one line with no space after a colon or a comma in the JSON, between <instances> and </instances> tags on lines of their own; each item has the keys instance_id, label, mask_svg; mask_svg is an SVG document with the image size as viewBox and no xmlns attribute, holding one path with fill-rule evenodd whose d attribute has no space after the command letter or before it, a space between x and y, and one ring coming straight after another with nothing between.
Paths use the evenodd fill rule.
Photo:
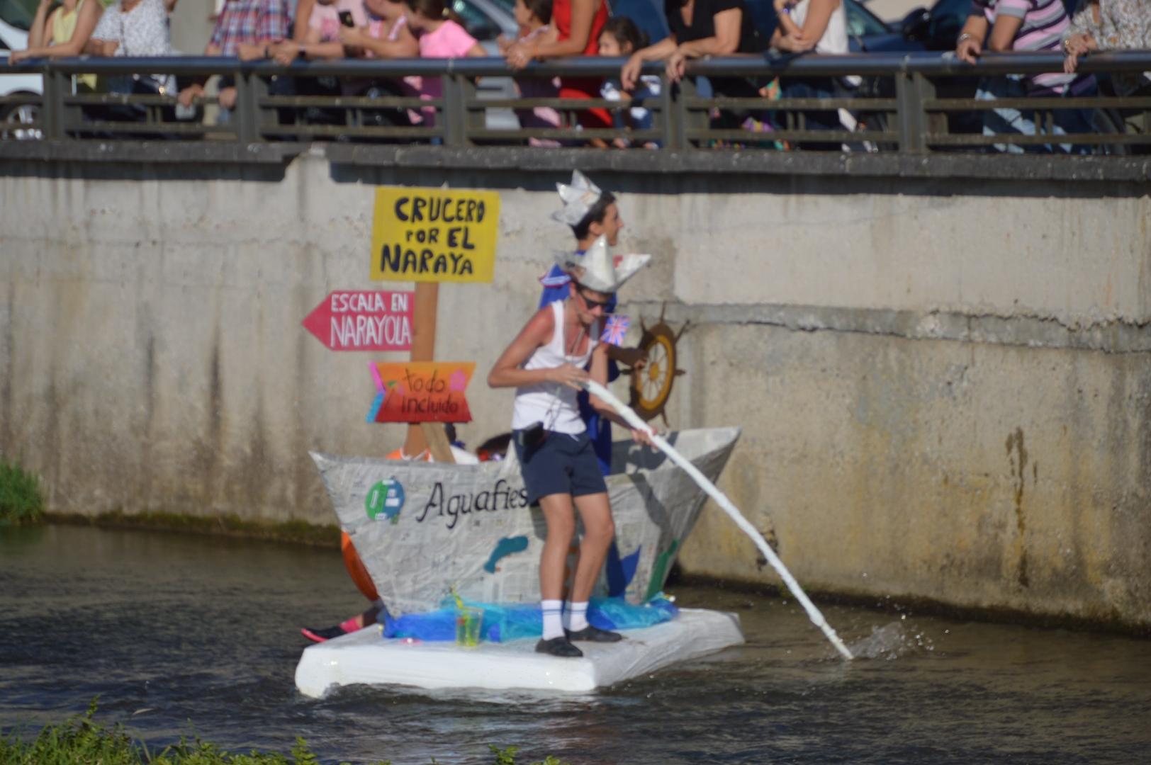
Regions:
<instances>
[{"instance_id":1,"label":"person in white sleeveless top behind railing, right of person in black","mask_svg":"<svg viewBox=\"0 0 1151 765\"><path fill-rule=\"evenodd\" d=\"M786 53L843 54L848 52L847 10L843 0L775 0L776 18L779 24L771 35L771 47ZM784 98L833 98L851 95L862 79L855 75L846 77L780 77L779 87ZM775 127L784 130L785 113L778 112ZM805 112L803 127L807 130L855 129L855 120L846 110ZM838 144L800 144L803 148L838 148Z\"/></svg>"}]
</instances>

